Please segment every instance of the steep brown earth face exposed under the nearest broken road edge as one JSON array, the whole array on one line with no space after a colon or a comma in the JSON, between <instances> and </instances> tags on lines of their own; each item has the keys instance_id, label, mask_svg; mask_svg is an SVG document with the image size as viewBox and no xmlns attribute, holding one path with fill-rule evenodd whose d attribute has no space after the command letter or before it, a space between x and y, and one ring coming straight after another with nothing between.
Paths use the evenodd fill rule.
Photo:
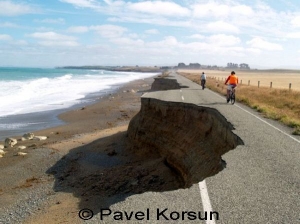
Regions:
<instances>
[{"instance_id":1,"label":"steep brown earth face exposed under the nearest broken road edge","mask_svg":"<svg viewBox=\"0 0 300 224\"><path fill-rule=\"evenodd\" d=\"M142 98L127 133L132 150L159 153L189 187L220 172L221 156L243 144L233 129L215 109Z\"/></svg>"}]
</instances>

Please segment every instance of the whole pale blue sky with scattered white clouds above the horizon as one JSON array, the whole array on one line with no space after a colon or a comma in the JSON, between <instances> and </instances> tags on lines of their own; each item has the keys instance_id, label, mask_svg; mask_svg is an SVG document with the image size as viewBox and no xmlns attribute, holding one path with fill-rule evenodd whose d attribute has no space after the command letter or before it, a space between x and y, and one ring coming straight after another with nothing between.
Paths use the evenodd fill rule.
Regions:
<instances>
[{"instance_id":1,"label":"whole pale blue sky with scattered white clouds above the horizon","mask_svg":"<svg viewBox=\"0 0 300 224\"><path fill-rule=\"evenodd\" d=\"M300 69L299 0L0 0L0 66Z\"/></svg>"}]
</instances>

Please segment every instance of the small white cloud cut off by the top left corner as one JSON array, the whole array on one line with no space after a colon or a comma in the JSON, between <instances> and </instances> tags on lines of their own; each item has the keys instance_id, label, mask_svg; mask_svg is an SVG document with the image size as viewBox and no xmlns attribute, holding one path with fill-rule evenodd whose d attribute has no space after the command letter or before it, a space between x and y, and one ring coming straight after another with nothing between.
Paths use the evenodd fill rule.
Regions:
<instances>
[{"instance_id":1,"label":"small white cloud cut off by the top left corner","mask_svg":"<svg viewBox=\"0 0 300 224\"><path fill-rule=\"evenodd\" d=\"M34 12L34 9L23 3L14 3L12 1L0 2L0 16L18 16Z\"/></svg>"}]
</instances>

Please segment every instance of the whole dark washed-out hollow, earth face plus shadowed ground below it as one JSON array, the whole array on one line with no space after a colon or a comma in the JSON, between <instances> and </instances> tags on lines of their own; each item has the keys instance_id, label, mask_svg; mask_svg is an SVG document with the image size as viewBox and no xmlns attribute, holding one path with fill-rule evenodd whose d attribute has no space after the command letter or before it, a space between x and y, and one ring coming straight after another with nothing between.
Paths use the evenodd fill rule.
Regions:
<instances>
[{"instance_id":1,"label":"whole dark washed-out hollow, earth face plus shadowed ground below it","mask_svg":"<svg viewBox=\"0 0 300 224\"><path fill-rule=\"evenodd\" d=\"M215 109L142 98L128 130L72 149L47 173L55 191L97 210L132 194L190 187L220 172L221 156L243 144Z\"/></svg>"}]
</instances>

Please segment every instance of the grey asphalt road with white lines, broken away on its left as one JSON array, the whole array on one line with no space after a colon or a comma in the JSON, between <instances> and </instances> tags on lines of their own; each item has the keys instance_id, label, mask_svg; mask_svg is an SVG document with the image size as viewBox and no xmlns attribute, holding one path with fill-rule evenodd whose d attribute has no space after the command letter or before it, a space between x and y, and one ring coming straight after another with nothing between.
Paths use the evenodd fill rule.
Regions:
<instances>
[{"instance_id":1,"label":"grey asphalt road with white lines, broken away on its left","mask_svg":"<svg viewBox=\"0 0 300 224\"><path fill-rule=\"evenodd\" d=\"M289 135L288 128L247 107L227 104L223 96L202 90L184 77L172 73L170 78L184 88L149 92L143 97L215 108L233 124L245 145L226 153L227 167L201 186L132 195L110 206L111 215L103 220L97 214L85 223L300 223L299 136ZM214 213L211 219L211 211L218 216ZM133 212L131 221L126 220L125 212ZM206 212L207 220L199 220L198 212L202 219Z\"/></svg>"}]
</instances>

